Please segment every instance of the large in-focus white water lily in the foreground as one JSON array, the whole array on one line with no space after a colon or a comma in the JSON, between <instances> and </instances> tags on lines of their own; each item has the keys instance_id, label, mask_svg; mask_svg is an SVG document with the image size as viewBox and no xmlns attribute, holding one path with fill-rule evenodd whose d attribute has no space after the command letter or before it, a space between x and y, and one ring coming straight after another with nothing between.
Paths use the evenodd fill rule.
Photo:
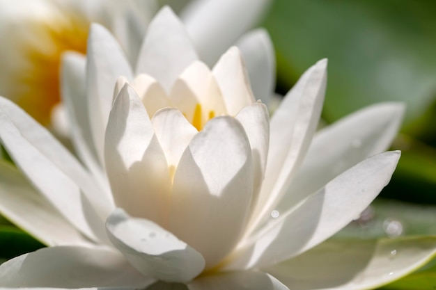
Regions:
<instances>
[{"instance_id":1,"label":"large in-focus white water lily in the foreground","mask_svg":"<svg viewBox=\"0 0 436 290\"><path fill-rule=\"evenodd\" d=\"M314 136L327 61L309 68L270 120L240 51L210 70L182 32L162 10L134 76L94 25L89 103L72 98L83 60L66 56L65 104L87 168L0 99L1 142L37 190L0 163L0 209L55 245L2 264L0 287L367 289L435 255L431 238L325 242L389 182L400 153L377 153L396 134L402 105L366 108Z\"/></svg>"}]
</instances>

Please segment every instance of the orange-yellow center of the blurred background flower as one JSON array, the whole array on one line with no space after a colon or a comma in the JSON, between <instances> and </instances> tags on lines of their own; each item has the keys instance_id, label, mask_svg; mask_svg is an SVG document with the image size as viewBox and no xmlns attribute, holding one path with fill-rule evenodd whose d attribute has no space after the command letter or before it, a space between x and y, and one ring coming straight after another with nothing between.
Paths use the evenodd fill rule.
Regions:
<instances>
[{"instance_id":1,"label":"orange-yellow center of the blurred background flower","mask_svg":"<svg viewBox=\"0 0 436 290\"><path fill-rule=\"evenodd\" d=\"M86 19L65 15L65 19L56 20L29 27L33 38L20 43L26 63L11 75L10 85L15 88L7 96L45 125L49 124L52 108L60 100L61 54L67 50L85 54L88 37Z\"/></svg>"}]
</instances>

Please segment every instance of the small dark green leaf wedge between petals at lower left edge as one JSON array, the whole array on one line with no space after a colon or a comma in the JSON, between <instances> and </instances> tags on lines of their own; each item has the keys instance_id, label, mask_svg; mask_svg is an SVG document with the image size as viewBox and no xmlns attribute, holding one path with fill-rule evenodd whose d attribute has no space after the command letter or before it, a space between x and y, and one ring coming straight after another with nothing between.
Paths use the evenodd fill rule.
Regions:
<instances>
[{"instance_id":1,"label":"small dark green leaf wedge between petals at lower left edge","mask_svg":"<svg viewBox=\"0 0 436 290\"><path fill-rule=\"evenodd\" d=\"M0 225L0 262L44 246L17 227Z\"/></svg>"}]
</instances>

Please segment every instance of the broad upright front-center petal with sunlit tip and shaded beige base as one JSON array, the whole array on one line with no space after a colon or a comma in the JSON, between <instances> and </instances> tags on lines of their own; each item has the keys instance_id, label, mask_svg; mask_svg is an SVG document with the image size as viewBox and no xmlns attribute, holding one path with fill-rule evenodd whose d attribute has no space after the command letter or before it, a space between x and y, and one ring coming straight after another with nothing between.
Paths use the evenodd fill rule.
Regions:
<instances>
[{"instance_id":1,"label":"broad upright front-center petal with sunlit tip and shaded beige base","mask_svg":"<svg viewBox=\"0 0 436 290\"><path fill-rule=\"evenodd\" d=\"M214 266L242 234L252 191L247 134L234 118L213 118L180 159L169 229Z\"/></svg>"}]
</instances>

